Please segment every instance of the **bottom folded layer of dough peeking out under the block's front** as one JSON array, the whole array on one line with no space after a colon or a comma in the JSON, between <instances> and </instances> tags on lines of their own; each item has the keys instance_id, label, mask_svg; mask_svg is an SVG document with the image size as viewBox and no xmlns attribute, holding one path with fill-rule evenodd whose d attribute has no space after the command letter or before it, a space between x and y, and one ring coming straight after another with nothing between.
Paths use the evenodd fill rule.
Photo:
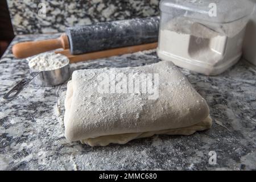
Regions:
<instances>
[{"instance_id":1,"label":"bottom folded layer of dough peeking out under the block's front","mask_svg":"<svg viewBox=\"0 0 256 182\"><path fill-rule=\"evenodd\" d=\"M116 134L116 135L106 135L96 138L82 139L80 142L82 144L88 144L91 147L95 146L108 146L110 143L114 144L126 144L131 140L138 138L152 137L153 135L192 135L196 131L204 131L210 129L212 126L212 119L208 116L204 121L201 121L193 126L188 126L179 129L167 129L160 131L148 131L144 133L127 133L127 134Z\"/></svg>"}]
</instances>

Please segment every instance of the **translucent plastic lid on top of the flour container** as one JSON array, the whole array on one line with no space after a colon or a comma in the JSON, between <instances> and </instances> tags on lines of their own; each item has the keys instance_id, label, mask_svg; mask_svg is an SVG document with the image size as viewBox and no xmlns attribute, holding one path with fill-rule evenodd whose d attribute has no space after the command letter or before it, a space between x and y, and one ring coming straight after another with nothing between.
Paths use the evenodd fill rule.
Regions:
<instances>
[{"instance_id":1,"label":"translucent plastic lid on top of the flour container","mask_svg":"<svg viewBox=\"0 0 256 182\"><path fill-rule=\"evenodd\" d=\"M177 13L174 9L183 10L180 13L190 18L230 23L250 15L254 3L248 0L162 0L160 2L161 11L169 14Z\"/></svg>"}]
</instances>

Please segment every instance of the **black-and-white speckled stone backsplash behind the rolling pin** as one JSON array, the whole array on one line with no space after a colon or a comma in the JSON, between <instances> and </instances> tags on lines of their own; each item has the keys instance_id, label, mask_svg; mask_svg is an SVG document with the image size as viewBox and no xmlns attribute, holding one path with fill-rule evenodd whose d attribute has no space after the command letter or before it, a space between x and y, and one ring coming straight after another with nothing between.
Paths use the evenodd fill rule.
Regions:
<instances>
[{"instance_id":1,"label":"black-and-white speckled stone backsplash behind the rolling pin","mask_svg":"<svg viewBox=\"0 0 256 182\"><path fill-rule=\"evenodd\" d=\"M15 34L65 32L65 27L159 15L159 0L7 0L7 2ZM41 6L39 3L44 5ZM41 11L43 7L46 7L45 14Z\"/></svg>"}]
</instances>

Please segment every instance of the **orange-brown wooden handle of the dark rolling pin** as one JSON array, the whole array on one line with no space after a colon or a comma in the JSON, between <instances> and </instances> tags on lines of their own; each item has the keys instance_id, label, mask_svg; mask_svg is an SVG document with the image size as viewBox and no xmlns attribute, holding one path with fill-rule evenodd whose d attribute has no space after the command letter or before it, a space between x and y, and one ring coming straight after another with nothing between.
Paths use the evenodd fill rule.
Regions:
<instances>
[{"instance_id":1,"label":"orange-brown wooden handle of the dark rolling pin","mask_svg":"<svg viewBox=\"0 0 256 182\"><path fill-rule=\"evenodd\" d=\"M60 38L40 40L36 42L22 42L13 46L13 55L16 58L26 58L37 55L38 53L51 51L54 49L63 48L68 49L68 37L62 34Z\"/></svg>"}]
</instances>

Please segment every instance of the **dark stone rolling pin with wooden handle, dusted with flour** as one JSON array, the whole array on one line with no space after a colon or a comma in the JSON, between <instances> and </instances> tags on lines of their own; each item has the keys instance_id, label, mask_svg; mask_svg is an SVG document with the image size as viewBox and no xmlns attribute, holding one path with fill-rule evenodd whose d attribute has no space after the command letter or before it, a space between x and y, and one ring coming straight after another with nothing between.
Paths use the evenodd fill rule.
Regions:
<instances>
[{"instance_id":1,"label":"dark stone rolling pin with wooden handle, dusted with flour","mask_svg":"<svg viewBox=\"0 0 256 182\"><path fill-rule=\"evenodd\" d=\"M57 39L23 42L13 46L16 58L53 49L69 49L71 55L158 42L159 16L69 27Z\"/></svg>"}]
</instances>

